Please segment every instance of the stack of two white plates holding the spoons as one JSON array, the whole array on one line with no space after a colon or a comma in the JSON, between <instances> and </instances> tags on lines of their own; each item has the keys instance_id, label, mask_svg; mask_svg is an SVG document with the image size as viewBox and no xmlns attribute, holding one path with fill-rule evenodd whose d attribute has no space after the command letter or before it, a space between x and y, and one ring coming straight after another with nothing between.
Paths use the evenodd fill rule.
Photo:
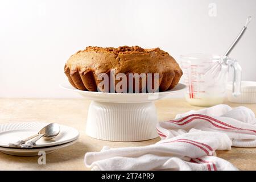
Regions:
<instances>
[{"instance_id":1,"label":"stack of two white plates holding the spoons","mask_svg":"<svg viewBox=\"0 0 256 182\"><path fill-rule=\"evenodd\" d=\"M18 156L36 156L39 151L49 154L59 148L76 143L79 138L79 131L72 127L60 125L59 135L51 140L39 139L34 148L9 147L9 143L37 134L39 130L47 125L49 123L38 122L18 122L0 125L0 152Z\"/></svg>"}]
</instances>

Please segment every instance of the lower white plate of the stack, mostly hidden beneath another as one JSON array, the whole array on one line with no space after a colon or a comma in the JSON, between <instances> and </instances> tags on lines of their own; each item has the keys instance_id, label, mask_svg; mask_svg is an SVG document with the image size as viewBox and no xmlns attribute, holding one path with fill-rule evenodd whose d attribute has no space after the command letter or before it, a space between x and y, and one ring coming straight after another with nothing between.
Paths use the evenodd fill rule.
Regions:
<instances>
[{"instance_id":1,"label":"lower white plate of the stack, mostly hidden beneath another","mask_svg":"<svg viewBox=\"0 0 256 182\"><path fill-rule=\"evenodd\" d=\"M45 148L42 147L42 148L31 148L31 149L0 147L0 152L9 154L9 155L16 155L16 156L37 156L39 151L44 151L46 152L46 154L51 154L57 149L70 146L71 144L74 144L76 142L77 142L77 139L73 140L72 142L60 144L53 147L45 147Z\"/></svg>"}]
</instances>

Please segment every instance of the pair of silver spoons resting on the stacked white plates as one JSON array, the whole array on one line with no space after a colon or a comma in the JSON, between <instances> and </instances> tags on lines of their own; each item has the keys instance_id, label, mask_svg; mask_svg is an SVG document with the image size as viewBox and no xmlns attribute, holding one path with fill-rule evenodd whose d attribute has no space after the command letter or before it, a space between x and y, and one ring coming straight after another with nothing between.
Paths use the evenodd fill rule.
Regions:
<instances>
[{"instance_id":1,"label":"pair of silver spoons resting on the stacked white plates","mask_svg":"<svg viewBox=\"0 0 256 182\"><path fill-rule=\"evenodd\" d=\"M23 140L19 140L18 142L15 142L15 143L9 143L9 146L10 147L31 148L35 145L36 141L39 140L40 138L44 137L45 140L49 140L49 139L56 137L56 135L58 135L59 133L60 133L60 126L57 125L57 123L51 123L51 124L43 127L43 129L41 129L38 132L38 134L32 135L31 137L28 137ZM32 138L35 138L35 139L32 140L31 142L28 142L27 144L25 144L28 140L31 140Z\"/></svg>"}]
</instances>

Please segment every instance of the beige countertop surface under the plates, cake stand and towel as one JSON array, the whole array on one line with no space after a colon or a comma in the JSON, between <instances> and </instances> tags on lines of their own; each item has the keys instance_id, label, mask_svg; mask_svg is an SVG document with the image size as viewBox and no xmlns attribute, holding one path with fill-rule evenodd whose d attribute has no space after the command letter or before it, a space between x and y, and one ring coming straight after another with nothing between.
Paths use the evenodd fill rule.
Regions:
<instances>
[{"instance_id":1,"label":"beige countertop surface under the plates, cake stand and towel","mask_svg":"<svg viewBox=\"0 0 256 182\"><path fill-rule=\"evenodd\" d=\"M0 170L88 170L84 166L84 155L100 151L103 146L146 146L160 138L143 142L108 142L85 135L85 123L90 101L84 99L0 99L0 123L7 122L57 122L75 127L80 132L79 141L72 146L48 154L46 165L39 165L39 156L18 157L0 152ZM229 104L232 107L238 104ZM178 113L200 109L187 104L183 99L166 99L155 102L159 121L174 118ZM256 104L243 105L256 112ZM256 170L256 148L236 148L217 151L217 156L233 163L241 170Z\"/></svg>"}]
</instances>

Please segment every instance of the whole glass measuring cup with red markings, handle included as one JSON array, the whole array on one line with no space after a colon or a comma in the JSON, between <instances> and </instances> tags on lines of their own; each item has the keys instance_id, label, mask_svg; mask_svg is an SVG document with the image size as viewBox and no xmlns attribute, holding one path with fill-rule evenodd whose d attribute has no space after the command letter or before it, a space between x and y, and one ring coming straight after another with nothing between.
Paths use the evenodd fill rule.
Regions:
<instances>
[{"instance_id":1,"label":"whole glass measuring cup with red markings, handle included","mask_svg":"<svg viewBox=\"0 0 256 182\"><path fill-rule=\"evenodd\" d=\"M187 85L185 98L191 105L213 106L225 99L229 70L233 70L233 95L240 94L241 67L229 57L191 53L181 55L181 69Z\"/></svg>"}]
</instances>

